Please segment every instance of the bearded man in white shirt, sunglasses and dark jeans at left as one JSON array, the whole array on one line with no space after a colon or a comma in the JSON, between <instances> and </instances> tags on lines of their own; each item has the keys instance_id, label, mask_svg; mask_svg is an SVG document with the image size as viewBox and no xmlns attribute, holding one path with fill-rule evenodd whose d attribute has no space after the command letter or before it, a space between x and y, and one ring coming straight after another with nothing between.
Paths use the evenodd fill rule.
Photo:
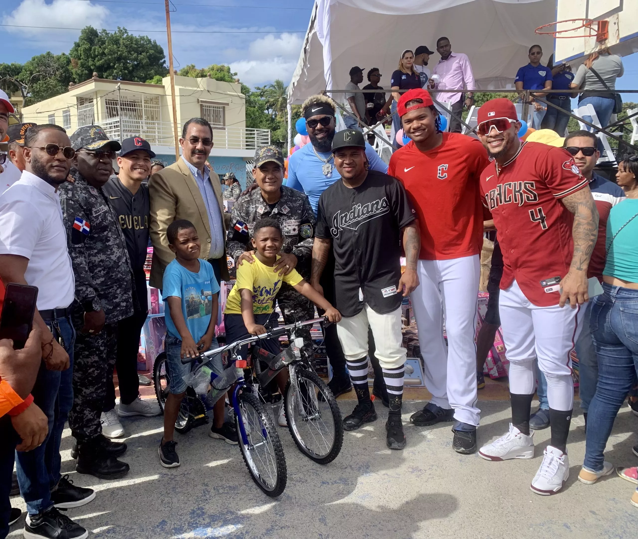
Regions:
<instances>
[{"instance_id":1,"label":"bearded man in white shirt, sunglasses and dark jeans at left","mask_svg":"<svg viewBox=\"0 0 638 539\"><path fill-rule=\"evenodd\" d=\"M75 152L64 129L49 124L29 128L23 151L22 176L0 195L0 278L5 285L38 287L33 323L42 331L43 361L31 395L48 419L45 441L17 453L20 493L29 512L24 534L85 538L87 531L56 508L95 497L93 490L60 476L60 441L73 404L75 331L69 307L75 282L57 188L66 181Z\"/></svg>"}]
</instances>

